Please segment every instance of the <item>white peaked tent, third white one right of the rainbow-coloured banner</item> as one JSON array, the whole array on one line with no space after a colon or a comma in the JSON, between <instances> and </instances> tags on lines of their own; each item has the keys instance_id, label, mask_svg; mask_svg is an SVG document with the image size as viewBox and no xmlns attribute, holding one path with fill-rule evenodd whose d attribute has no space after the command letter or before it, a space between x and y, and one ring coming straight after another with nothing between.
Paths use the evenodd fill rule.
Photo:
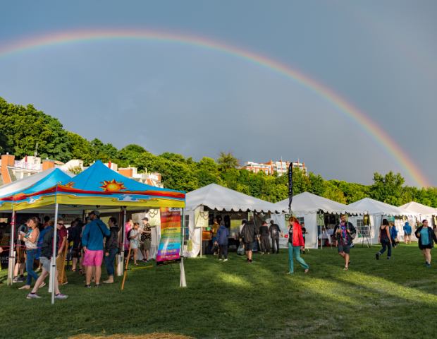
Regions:
<instances>
[{"instance_id":1,"label":"white peaked tent, third white one right of the rainbow-coloured banner","mask_svg":"<svg viewBox=\"0 0 437 339\"><path fill-rule=\"evenodd\" d=\"M362 208L367 210L370 216L370 240L371 244L378 244L379 226L382 224L384 216L393 215L394 217L406 217L410 221L410 226L414 232L414 218L418 215L411 210L400 208L396 206L388 205L388 203L382 203L371 198L364 198L355 203L351 203L349 206L355 208ZM398 229L398 235L403 236L404 222L401 219L395 220L395 226ZM414 236L412 236L413 239ZM415 239L415 238L414 238ZM416 239L417 240L417 239Z\"/></svg>"}]
</instances>

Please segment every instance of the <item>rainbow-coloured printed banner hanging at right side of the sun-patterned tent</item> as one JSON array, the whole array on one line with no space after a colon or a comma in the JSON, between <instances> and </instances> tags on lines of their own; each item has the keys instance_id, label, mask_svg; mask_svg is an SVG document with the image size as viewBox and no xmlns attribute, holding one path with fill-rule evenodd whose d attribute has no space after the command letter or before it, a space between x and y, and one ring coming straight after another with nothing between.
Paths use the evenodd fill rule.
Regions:
<instances>
[{"instance_id":1,"label":"rainbow-coloured printed banner hanging at right side of the sun-patterned tent","mask_svg":"<svg viewBox=\"0 0 437 339\"><path fill-rule=\"evenodd\" d=\"M156 266L180 262L180 220L182 208L161 207L161 241Z\"/></svg>"}]
</instances>

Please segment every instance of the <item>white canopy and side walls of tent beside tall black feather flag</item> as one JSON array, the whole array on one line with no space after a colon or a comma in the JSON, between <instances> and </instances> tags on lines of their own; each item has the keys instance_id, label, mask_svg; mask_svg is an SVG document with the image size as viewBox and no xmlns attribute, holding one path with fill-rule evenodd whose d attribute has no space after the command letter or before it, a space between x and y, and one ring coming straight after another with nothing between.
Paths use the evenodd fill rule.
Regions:
<instances>
[{"instance_id":1,"label":"white canopy and side walls of tent beside tall black feather flag","mask_svg":"<svg viewBox=\"0 0 437 339\"><path fill-rule=\"evenodd\" d=\"M276 203L278 206L288 207L288 199ZM296 215L300 221L304 222L305 228L309 234L306 235L305 247L310 249L316 249L318 227L317 227L317 214L328 213L334 215L347 214L350 216L349 221L357 227L356 216L365 215L366 210L362 208L353 207L350 205L344 205L343 203L337 203L321 196L309 192L303 192L293 197L291 203L291 211ZM355 219L354 219L355 216ZM276 224L281 227L283 232L286 232L288 222L285 221L284 215L273 216ZM303 219L303 220L302 220ZM282 240L282 241L281 241ZM281 239L280 246L287 246L286 239Z\"/></svg>"}]
</instances>

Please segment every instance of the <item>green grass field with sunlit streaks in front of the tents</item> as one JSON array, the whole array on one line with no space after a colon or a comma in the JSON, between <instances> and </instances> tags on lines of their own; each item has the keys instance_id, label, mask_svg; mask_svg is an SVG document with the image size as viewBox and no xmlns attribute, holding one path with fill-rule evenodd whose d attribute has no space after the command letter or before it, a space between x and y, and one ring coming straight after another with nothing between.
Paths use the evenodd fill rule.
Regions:
<instances>
[{"instance_id":1,"label":"green grass field with sunlit streaks in front of the tents","mask_svg":"<svg viewBox=\"0 0 437 339\"><path fill-rule=\"evenodd\" d=\"M80 333L152 333L168 331L195 338L436 338L437 250L431 268L417 244L393 249L355 246L350 270L336 251L324 248L302 256L309 273L288 254L254 254L254 263L230 254L223 263L207 256L185 261L187 287L179 287L179 266L130 270L121 292L116 284L83 287L68 273L61 292L66 300L51 305L26 299L23 284L6 286L0 272L1 338L68 338ZM147 264L141 263L142 266ZM106 278L106 270L104 278Z\"/></svg>"}]
</instances>

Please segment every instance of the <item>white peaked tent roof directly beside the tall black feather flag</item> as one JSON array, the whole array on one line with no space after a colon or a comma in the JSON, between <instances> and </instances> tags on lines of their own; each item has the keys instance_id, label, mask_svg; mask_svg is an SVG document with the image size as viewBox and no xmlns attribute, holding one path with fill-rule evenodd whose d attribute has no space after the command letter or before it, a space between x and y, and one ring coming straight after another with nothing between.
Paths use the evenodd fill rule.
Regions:
<instances>
[{"instance_id":1,"label":"white peaked tent roof directly beside the tall black feather flag","mask_svg":"<svg viewBox=\"0 0 437 339\"><path fill-rule=\"evenodd\" d=\"M278 206L287 206L288 199L276 203ZM337 203L336 201L323 198L321 196L316 196L315 194L309 192L303 192L293 196L293 201L291 203L292 213L297 214L308 214L308 213L318 213L319 210L324 213L335 213L335 214L350 214L350 215L364 215L366 210L362 208L353 207L351 205L345 205L343 203Z\"/></svg>"}]
</instances>

